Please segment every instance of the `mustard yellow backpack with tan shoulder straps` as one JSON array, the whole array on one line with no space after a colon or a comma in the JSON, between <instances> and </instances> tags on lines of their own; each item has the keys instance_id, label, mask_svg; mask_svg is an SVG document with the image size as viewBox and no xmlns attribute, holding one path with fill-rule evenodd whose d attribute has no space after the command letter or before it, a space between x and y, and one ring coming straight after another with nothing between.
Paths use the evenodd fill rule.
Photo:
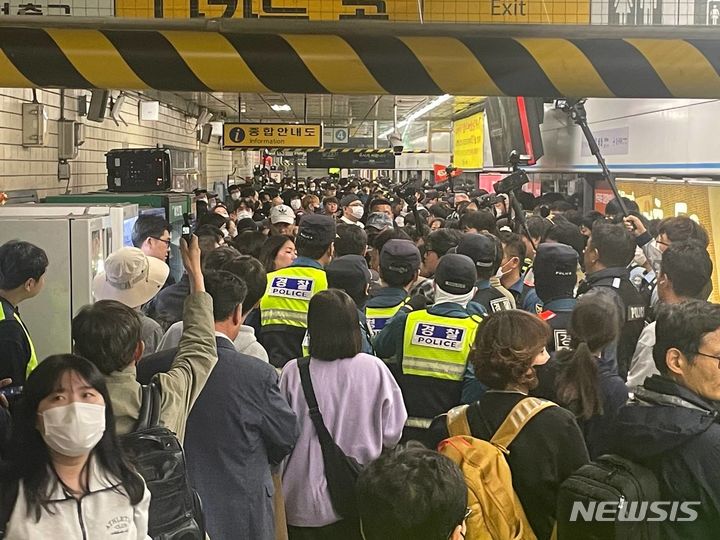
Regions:
<instances>
[{"instance_id":1,"label":"mustard yellow backpack with tan shoulder straps","mask_svg":"<svg viewBox=\"0 0 720 540\"><path fill-rule=\"evenodd\" d=\"M536 540L513 488L505 456L531 418L543 409L556 406L538 398L523 399L513 407L490 441L472 436L467 405L455 407L448 413L450 438L440 443L438 451L454 461L465 476L471 510L466 540Z\"/></svg>"}]
</instances>

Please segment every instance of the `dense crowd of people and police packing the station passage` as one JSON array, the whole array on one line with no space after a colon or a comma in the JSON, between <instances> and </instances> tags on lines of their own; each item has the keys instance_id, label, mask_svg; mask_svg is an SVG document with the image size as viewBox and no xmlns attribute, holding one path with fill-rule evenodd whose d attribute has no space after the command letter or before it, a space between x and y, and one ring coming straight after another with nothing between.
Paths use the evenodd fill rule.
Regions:
<instances>
[{"instance_id":1,"label":"dense crowd of people and police packing the station passage","mask_svg":"<svg viewBox=\"0 0 720 540\"><path fill-rule=\"evenodd\" d=\"M22 321L53 261L0 246L0 538L486 538L510 513L486 512L459 440L498 450L513 538L562 533L563 486L608 454L700 503L664 538L720 530L701 224L558 193L516 192L518 215L482 190L258 188L196 191L178 282L170 225L141 216L72 354L37 358ZM199 536L161 530L184 484L129 450L148 417L184 449Z\"/></svg>"}]
</instances>

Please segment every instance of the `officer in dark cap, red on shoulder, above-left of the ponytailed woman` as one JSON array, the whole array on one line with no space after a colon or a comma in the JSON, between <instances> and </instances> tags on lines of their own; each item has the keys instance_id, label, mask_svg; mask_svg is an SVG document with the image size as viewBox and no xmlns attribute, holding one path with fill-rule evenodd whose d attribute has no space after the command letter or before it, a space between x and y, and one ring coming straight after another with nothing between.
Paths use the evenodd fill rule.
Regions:
<instances>
[{"instance_id":1,"label":"officer in dark cap, red on shoulder, above-left of the ponytailed woman","mask_svg":"<svg viewBox=\"0 0 720 540\"><path fill-rule=\"evenodd\" d=\"M578 256L565 244L540 244L535 254L535 292L543 302L540 318L552 329L548 352L570 347L568 326L575 309Z\"/></svg>"}]
</instances>

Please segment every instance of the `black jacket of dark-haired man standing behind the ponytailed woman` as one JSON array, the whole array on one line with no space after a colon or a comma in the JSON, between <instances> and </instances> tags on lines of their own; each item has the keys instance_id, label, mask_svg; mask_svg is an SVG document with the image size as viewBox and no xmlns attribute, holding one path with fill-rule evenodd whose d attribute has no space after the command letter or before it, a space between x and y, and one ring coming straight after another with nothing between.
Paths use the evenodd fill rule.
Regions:
<instances>
[{"instance_id":1,"label":"black jacket of dark-haired man standing behind the ponytailed woman","mask_svg":"<svg viewBox=\"0 0 720 540\"><path fill-rule=\"evenodd\" d=\"M638 339L645 328L645 314L649 307L647 299L630 281L630 270L627 268L605 268L589 274L578 287L578 296L596 287L607 287L615 291L620 299L623 327L617 342L617 364L618 374L625 380Z\"/></svg>"}]
</instances>

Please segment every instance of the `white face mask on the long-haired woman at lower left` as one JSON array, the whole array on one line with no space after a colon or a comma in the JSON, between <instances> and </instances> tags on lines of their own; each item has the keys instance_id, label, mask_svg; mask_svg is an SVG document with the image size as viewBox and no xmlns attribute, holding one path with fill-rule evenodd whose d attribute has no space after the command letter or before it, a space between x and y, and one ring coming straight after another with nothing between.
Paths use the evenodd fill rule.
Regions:
<instances>
[{"instance_id":1,"label":"white face mask on the long-haired woman at lower left","mask_svg":"<svg viewBox=\"0 0 720 540\"><path fill-rule=\"evenodd\" d=\"M63 456L89 453L105 433L105 405L75 402L48 409L41 416L45 444Z\"/></svg>"}]
</instances>

